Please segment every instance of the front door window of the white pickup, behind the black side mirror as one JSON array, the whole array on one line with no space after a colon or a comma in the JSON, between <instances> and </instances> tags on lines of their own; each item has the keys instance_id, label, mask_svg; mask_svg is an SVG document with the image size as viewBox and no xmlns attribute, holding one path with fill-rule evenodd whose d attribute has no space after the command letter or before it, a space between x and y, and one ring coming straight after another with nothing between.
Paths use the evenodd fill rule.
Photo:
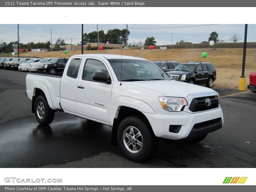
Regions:
<instances>
[{"instance_id":1,"label":"front door window of the white pickup, behind the black side mirror","mask_svg":"<svg viewBox=\"0 0 256 192\"><path fill-rule=\"evenodd\" d=\"M92 75L96 72L105 72L108 75L108 71L102 62L98 60L87 59L84 66L83 79L87 81L93 81Z\"/></svg>"}]
</instances>

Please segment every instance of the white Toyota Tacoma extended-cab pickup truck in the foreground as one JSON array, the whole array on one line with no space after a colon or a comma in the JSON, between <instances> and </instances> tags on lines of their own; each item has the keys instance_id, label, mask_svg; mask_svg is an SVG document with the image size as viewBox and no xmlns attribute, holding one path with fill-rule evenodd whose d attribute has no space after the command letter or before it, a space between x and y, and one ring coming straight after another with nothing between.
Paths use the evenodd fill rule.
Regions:
<instances>
[{"instance_id":1,"label":"white Toyota Tacoma extended-cab pickup truck in the foreground","mask_svg":"<svg viewBox=\"0 0 256 192\"><path fill-rule=\"evenodd\" d=\"M124 155L144 161L158 138L196 143L222 127L219 95L173 81L154 63L130 56L72 56L63 75L28 74L26 94L42 125L64 111L112 126Z\"/></svg>"}]
</instances>

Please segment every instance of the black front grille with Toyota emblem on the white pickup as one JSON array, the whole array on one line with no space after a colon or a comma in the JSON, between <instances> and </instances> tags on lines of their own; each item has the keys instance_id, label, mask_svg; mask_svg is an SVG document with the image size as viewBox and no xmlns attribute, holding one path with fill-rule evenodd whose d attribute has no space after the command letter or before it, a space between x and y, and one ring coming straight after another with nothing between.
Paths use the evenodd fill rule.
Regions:
<instances>
[{"instance_id":1,"label":"black front grille with Toyota emblem on the white pickup","mask_svg":"<svg viewBox=\"0 0 256 192\"><path fill-rule=\"evenodd\" d=\"M209 101L210 100L210 105ZM208 104L208 105L207 105ZM219 107L219 99L216 96L209 96L209 97L198 97L194 98L190 105L189 105L189 110L192 112L199 112L199 111L206 111L209 109L214 109Z\"/></svg>"}]
</instances>

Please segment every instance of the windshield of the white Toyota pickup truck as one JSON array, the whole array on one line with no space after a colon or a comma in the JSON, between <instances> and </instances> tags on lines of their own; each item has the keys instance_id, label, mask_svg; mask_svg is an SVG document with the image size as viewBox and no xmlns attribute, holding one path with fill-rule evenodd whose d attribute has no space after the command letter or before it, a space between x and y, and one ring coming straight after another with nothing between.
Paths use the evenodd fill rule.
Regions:
<instances>
[{"instance_id":1,"label":"windshield of the white Toyota pickup truck","mask_svg":"<svg viewBox=\"0 0 256 192\"><path fill-rule=\"evenodd\" d=\"M121 80L121 59L109 59L118 81ZM122 60L122 81L170 80L150 61Z\"/></svg>"}]
</instances>

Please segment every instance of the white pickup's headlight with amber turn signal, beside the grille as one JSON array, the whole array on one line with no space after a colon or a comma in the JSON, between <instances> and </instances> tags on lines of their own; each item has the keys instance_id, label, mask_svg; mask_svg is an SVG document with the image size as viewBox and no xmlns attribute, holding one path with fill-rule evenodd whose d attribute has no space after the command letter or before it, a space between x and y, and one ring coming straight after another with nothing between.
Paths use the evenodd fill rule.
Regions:
<instances>
[{"instance_id":1,"label":"white pickup's headlight with amber turn signal, beside the grille","mask_svg":"<svg viewBox=\"0 0 256 192\"><path fill-rule=\"evenodd\" d=\"M178 97L159 97L160 104L167 111L180 112L183 106L188 105L185 98Z\"/></svg>"}]
</instances>

